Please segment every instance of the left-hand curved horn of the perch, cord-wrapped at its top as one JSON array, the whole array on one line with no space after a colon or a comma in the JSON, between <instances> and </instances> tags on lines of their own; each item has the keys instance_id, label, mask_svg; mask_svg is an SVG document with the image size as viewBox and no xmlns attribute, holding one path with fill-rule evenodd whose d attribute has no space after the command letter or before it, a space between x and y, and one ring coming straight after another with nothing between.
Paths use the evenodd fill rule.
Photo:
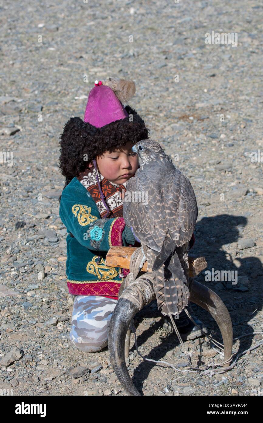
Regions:
<instances>
[{"instance_id":1,"label":"left-hand curved horn of the perch, cord-wrapped at its top","mask_svg":"<svg viewBox=\"0 0 263 423\"><path fill-rule=\"evenodd\" d=\"M147 276L148 275L148 276ZM133 317L155 298L150 273L138 277L119 298L108 330L108 350L111 365L125 390L133 396L140 393L130 379L125 363L125 337Z\"/></svg>"}]
</instances>

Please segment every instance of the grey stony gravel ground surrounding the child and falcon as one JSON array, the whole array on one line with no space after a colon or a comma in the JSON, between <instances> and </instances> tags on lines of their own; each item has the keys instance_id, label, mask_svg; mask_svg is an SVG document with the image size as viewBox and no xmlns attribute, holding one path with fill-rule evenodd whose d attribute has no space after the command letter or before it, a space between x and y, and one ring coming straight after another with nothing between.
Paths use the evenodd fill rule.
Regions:
<instances>
[{"instance_id":1,"label":"grey stony gravel ground surrounding the child and falcon","mask_svg":"<svg viewBox=\"0 0 263 423\"><path fill-rule=\"evenodd\" d=\"M108 349L85 354L70 342L58 202L63 126L70 116L83 118L94 80L114 75L136 82L130 105L191 180L199 208L193 252L205 255L206 270L238 271L237 285L198 276L225 302L234 336L248 334L234 351L260 342L262 335L249 333L263 331L262 3L8 0L0 11L0 150L7 153L0 163L0 389L127 395ZM237 47L206 44L212 30L237 33ZM213 319L194 310L220 341ZM141 354L185 367L155 302L138 313L136 326ZM232 371L200 377L143 362L133 340L128 368L143 395L260 393L262 346ZM200 368L222 361L203 339L185 346Z\"/></svg>"}]
</instances>

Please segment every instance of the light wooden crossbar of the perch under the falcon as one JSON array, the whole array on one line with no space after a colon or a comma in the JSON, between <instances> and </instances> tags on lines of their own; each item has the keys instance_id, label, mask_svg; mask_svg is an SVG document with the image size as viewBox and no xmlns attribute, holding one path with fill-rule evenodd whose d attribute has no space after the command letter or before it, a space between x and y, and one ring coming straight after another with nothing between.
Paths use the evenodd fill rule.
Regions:
<instances>
[{"instance_id":1,"label":"light wooden crossbar of the perch under the falcon","mask_svg":"<svg viewBox=\"0 0 263 423\"><path fill-rule=\"evenodd\" d=\"M106 266L130 269L130 257L134 250L136 250L136 247L111 247L106 255ZM188 263L191 277L197 276L207 266L206 259L200 255L195 254L188 255ZM141 271L152 272L152 269L148 268L147 261L144 263Z\"/></svg>"}]
</instances>

